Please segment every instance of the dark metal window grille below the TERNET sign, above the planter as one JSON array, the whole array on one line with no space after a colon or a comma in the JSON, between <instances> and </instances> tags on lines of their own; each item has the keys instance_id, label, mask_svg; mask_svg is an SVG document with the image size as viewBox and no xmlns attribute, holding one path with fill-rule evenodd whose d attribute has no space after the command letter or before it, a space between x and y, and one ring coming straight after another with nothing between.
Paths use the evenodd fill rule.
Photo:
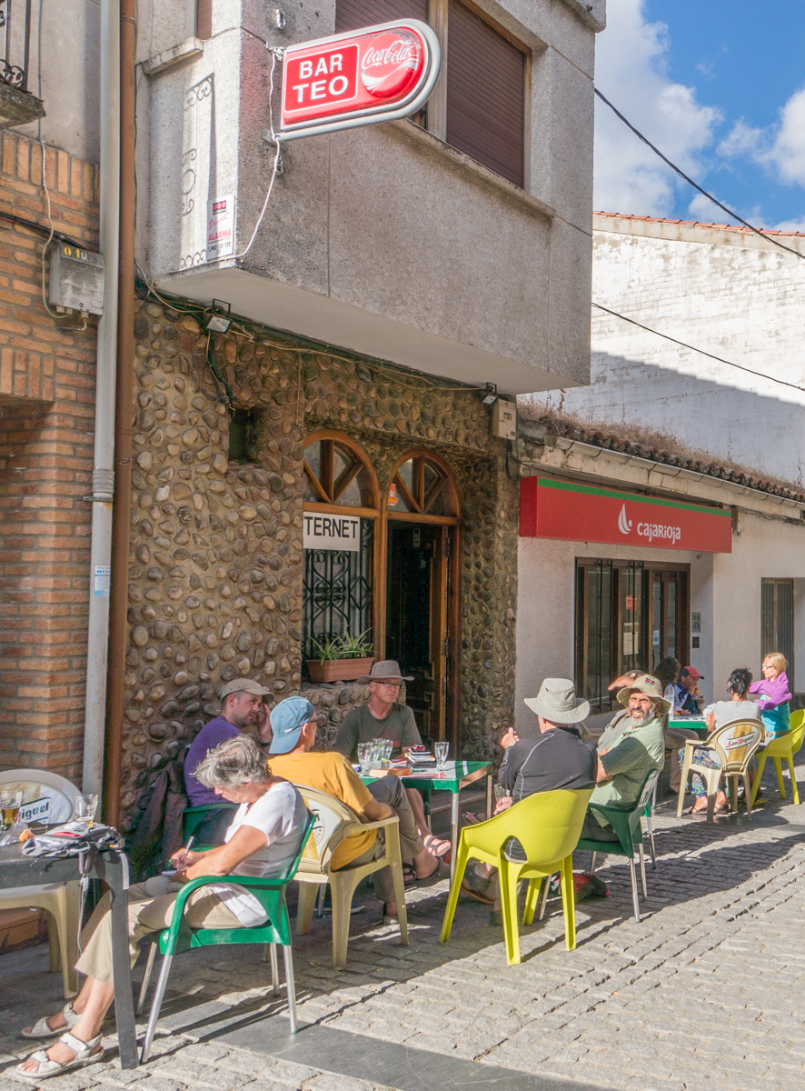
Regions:
<instances>
[{"instance_id":1,"label":"dark metal window grille below the TERNET sign, above the planter","mask_svg":"<svg viewBox=\"0 0 805 1091\"><path fill-rule=\"evenodd\" d=\"M361 519L361 548L305 550L302 647L321 637L359 636L372 628L374 519Z\"/></svg>"}]
</instances>

